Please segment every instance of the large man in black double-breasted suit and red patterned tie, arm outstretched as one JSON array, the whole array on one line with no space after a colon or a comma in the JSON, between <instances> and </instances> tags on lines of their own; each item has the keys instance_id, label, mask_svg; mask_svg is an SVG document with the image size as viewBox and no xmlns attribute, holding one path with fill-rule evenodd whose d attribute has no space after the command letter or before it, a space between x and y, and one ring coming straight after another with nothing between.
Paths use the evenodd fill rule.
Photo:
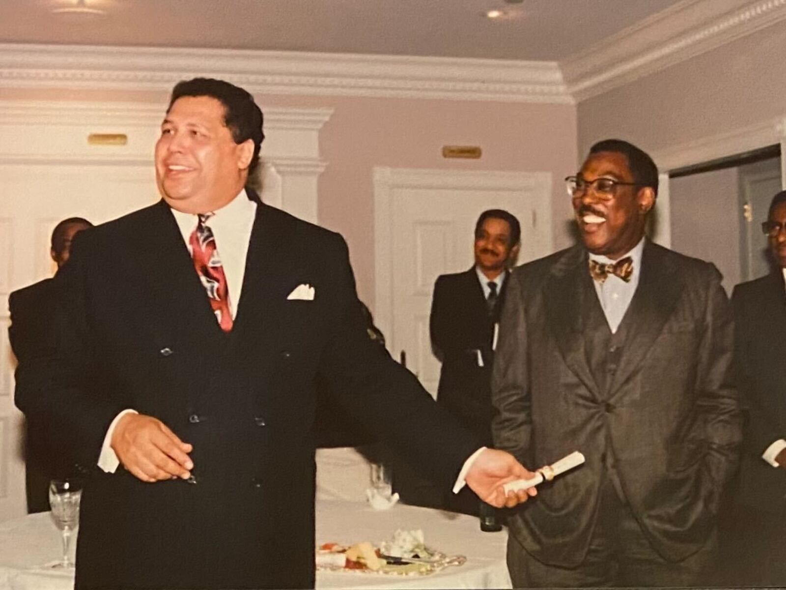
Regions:
<instances>
[{"instance_id":1,"label":"large man in black double-breasted suit and red patterned tie, arm outstretched","mask_svg":"<svg viewBox=\"0 0 786 590\"><path fill-rule=\"evenodd\" d=\"M79 234L58 277L63 341L17 369L19 407L101 467L77 588L312 588L318 376L436 481L526 500L502 484L529 472L478 449L369 340L343 239L244 188L262 140L248 92L178 83L163 200Z\"/></svg>"}]
</instances>

